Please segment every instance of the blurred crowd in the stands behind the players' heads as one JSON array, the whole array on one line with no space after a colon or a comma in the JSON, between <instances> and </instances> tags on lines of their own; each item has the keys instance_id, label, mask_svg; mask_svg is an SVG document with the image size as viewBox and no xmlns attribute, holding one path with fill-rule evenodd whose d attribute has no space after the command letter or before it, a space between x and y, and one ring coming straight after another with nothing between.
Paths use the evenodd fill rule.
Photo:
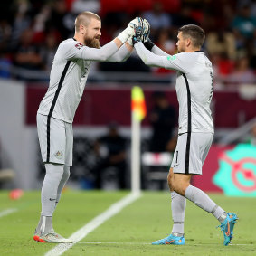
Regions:
<instances>
[{"instance_id":1,"label":"blurred crowd in the stands behind the players' heads","mask_svg":"<svg viewBox=\"0 0 256 256\"><path fill-rule=\"evenodd\" d=\"M58 44L72 37L75 16L82 11L100 14L101 45L112 40L136 16L151 24L151 39L175 53L177 29L198 24L206 32L204 51L213 62L221 88L256 82L255 0L14 0L0 10L0 77L22 79L22 71L50 71ZM134 53L128 62L97 63L96 71L149 69Z\"/></svg>"}]
</instances>

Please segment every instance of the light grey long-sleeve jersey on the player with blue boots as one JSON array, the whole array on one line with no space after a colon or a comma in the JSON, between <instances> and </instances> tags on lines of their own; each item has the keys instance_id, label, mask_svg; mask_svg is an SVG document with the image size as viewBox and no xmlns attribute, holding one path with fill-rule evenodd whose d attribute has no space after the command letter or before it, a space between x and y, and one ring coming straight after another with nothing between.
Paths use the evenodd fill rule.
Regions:
<instances>
[{"instance_id":1,"label":"light grey long-sleeve jersey on the player with blue boots","mask_svg":"<svg viewBox=\"0 0 256 256\"><path fill-rule=\"evenodd\" d=\"M176 71L175 90L179 102L179 134L185 132L214 132L212 112L212 63L204 52L182 52L168 55L154 46L148 51L136 43L137 54L149 66Z\"/></svg>"}]
</instances>

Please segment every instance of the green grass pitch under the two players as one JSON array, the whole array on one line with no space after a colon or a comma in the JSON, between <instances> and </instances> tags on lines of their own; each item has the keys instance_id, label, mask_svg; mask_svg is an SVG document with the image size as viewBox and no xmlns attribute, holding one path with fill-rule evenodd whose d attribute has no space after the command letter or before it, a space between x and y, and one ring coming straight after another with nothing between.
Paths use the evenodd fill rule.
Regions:
<instances>
[{"instance_id":1,"label":"green grass pitch under the two players","mask_svg":"<svg viewBox=\"0 0 256 256\"><path fill-rule=\"evenodd\" d=\"M69 237L126 194L128 192L64 192L54 214L55 231ZM171 231L171 199L168 192L145 192L63 255L255 255L255 199L210 196L227 211L238 214L233 245L223 246L223 233L215 228L219 223L191 202L187 202L185 212L185 246L151 245ZM39 192L25 192L17 201L11 201L8 192L0 192L0 212L8 208L18 211L0 217L0 255L44 255L56 246L33 241L41 210Z\"/></svg>"}]
</instances>

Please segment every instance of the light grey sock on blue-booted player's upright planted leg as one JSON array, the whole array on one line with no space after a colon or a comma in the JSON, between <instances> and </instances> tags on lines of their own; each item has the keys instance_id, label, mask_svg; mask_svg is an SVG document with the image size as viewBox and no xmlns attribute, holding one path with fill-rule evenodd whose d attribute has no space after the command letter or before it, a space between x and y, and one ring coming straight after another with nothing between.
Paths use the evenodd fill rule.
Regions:
<instances>
[{"instance_id":1,"label":"light grey sock on blue-booted player's upright planted leg","mask_svg":"<svg viewBox=\"0 0 256 256\"><path fill-rule=\"evenodd\" d=\"M172 233L177 236L184 234L184 219L185 219L185 205L186 199L184 196L171 192L172 196L172 216L173 216L173 230Z\"/></svg>"}]
</instances>

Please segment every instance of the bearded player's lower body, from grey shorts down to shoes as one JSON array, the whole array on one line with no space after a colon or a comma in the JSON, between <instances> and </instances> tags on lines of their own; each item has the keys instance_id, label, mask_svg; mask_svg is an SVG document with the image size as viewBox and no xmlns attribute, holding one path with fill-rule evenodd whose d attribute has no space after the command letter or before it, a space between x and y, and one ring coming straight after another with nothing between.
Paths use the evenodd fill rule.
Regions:
<instances>
[{"instance_id":1,"label":"bearded player's lower body, from grey shorts down to shoes","mask_svg":"<svg viewBox=\"0 0 256 256\"><path fill-rule=\"evenodd\" d=\"M51 164L45 164L46 174L41 194L42 213L33 239L38 242L70 242L52 228L52 214L70 173L69 168L64 169L64 164L71 166L71 160L66 164L65 123L60 119L49 120L47 116L37 115L37 128L43 162ZM71 158L71 154L69 156Z\"/></svg>"}]
</instances>

